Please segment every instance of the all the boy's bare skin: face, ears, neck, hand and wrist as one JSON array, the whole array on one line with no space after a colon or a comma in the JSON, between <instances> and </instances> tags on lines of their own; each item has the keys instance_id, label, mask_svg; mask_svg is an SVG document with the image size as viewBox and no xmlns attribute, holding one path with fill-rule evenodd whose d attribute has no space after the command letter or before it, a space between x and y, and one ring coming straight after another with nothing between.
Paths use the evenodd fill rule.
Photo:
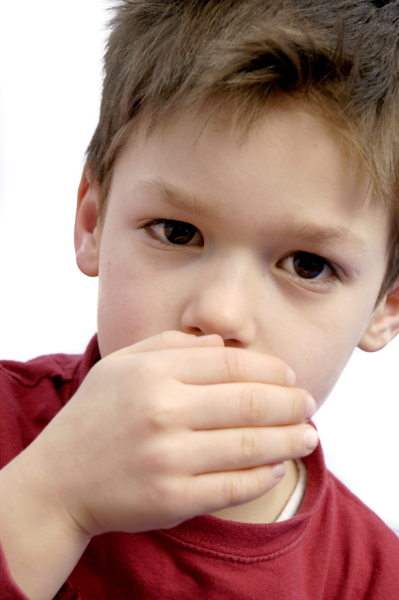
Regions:
<instances>
[{"instance_id":1,"label":"all the boy's bare skin: face, ears, neck, hand and wrist","mask_svg":"<svg viewBox=\"0 0 399 600\"><path fill-rule=\"evenodd\" d=\"M395 291L375 306L389 220L367 183L297 104L242 144L189 118L132 140L102 219L83 174L76 256L100 277L103 359L0 473L1 542L32 600L93 535L278 517L316 405L357 345L398 332Z\"/></svg>"}]
</instances>

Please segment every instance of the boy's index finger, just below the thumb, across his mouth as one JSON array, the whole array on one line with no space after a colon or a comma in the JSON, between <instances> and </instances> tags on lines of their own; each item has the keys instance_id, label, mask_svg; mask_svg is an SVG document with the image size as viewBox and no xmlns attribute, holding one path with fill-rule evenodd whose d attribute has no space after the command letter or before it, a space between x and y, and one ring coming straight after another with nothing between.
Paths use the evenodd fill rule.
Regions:
<instances>
[{"instance_id":1,"label":"boy's index finger, just below the thumb, across his mouth","mask_svg":"<svg viewBox=\"0 0 399 600\"><path fill-rule=\"evenodd\" d=\"M166 359L166 357L165 357ZM172 350L165 368L177 380L196 385L252 381L294 385L294 371L277 356L230 347Z\"/></svg>"}]
</instances>

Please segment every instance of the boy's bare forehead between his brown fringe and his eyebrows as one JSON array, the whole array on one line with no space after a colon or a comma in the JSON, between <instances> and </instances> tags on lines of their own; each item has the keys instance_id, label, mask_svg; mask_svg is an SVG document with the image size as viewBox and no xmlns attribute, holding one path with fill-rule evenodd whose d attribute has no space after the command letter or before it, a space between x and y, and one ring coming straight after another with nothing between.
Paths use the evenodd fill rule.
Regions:
<instances>
[{"instance_id":1,"label":"boy's bare forehead between his brown fringe and his eyebrows","mask_svg":"<svg viewBox=\"0 0 399 600\"><path fill-rule=\"evenodd\" d=\"M211 119L184 114L150 135L139 132L131 136L117 160L113 180L122 176L122 165L126 171L136 165L145 171L156 169L172 179L188 174L186 179L193 185L198 172L206 173L201 179L203 187L221 169L230 172L229 180L249 175L254 182L263 183L268 177L269 185L273 181L278 184L282 172L289 170L291 177L283 182L287 189L291 180L301 183L305 179L309 187L322 182L335 191L339 186L356 187L356 198L361 196L362 202L371 199L369 176L358 157L339 132L299 102L266 107L248 131L232 126L228 110ZM271 179L270 172L275 174Z\"/></svg>"}]
</instances>

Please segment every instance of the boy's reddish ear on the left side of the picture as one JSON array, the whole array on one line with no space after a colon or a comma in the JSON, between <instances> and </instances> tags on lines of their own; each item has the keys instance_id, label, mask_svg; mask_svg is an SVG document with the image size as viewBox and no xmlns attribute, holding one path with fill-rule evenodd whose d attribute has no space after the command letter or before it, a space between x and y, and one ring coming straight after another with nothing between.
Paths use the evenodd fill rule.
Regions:
<instances>
[{"instance_id":1,"label":"boy's reddish ear on the left side of the picture","mask_svg":"<svg viewBox=\"0 0 399 600\"><path fill-rule=\"evenodd\" d=\"M78 268L89 277L98 275L101 239L97 210L99 191L97 181L90 184L87 171L83 170L75 218L75 253Z\"/></svg>"}]
</instances>

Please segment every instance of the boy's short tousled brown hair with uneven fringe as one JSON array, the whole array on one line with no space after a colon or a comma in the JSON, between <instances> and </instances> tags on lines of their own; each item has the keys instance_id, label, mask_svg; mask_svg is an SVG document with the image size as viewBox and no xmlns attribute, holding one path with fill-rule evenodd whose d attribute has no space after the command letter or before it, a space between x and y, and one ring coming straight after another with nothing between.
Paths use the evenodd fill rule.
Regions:
<instances>
[{"instance_id":1,"label":"boy's short tousled brown hair with uneven fringe","mask_svg":"<svg viewBox=\"0 0 399 600\"><path fill-rule=\"evenodd\" d=\"M391 212L381 298L399 275L399 1L119 0L112 11L86 155L100 213L135 132L225 105L249 131L267 104L297 97L345 138Z\"/></svg>"}]
</instances>

